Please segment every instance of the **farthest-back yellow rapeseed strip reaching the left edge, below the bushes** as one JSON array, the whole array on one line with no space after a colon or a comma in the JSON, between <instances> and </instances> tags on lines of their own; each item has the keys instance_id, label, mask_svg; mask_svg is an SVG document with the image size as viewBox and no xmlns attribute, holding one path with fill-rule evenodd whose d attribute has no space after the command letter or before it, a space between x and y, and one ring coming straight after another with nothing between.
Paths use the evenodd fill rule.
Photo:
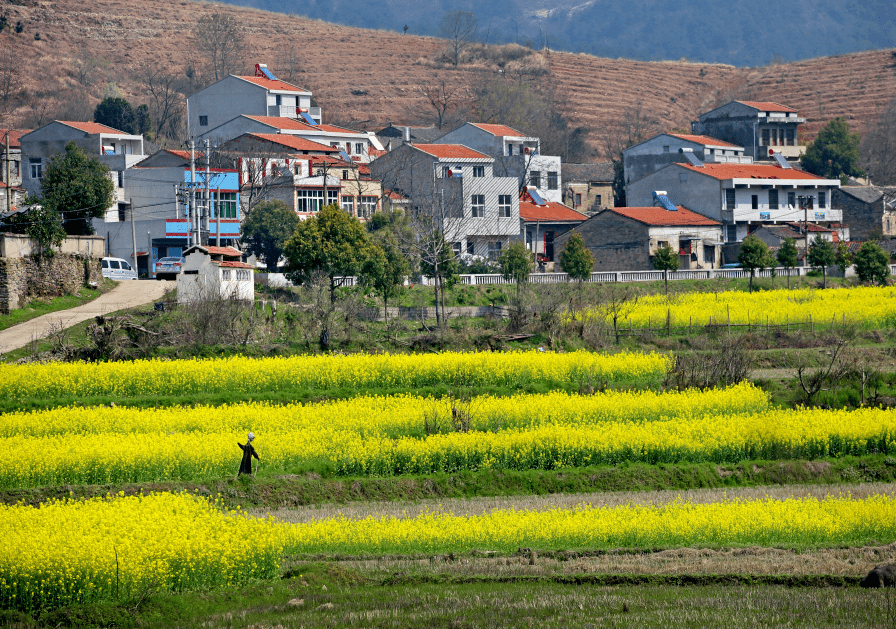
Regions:
<instances>
[{"instance_id":1,"label":"farthest-back yellow rapeseed strip reaching the left edge, below the bushes","mask_svg":"<svg viewBox=\"0 0 896 629\"><path fill-rule=\"evenodd\" d=\"M523 386L532 382L643 381L662 376L657 354L592 352L445 352L402 355L320 355L288 358L138 360L114 363L0 365L0 397L256 393L292 389L357 391L423 386Z\"/></svg>"}]
</instances>

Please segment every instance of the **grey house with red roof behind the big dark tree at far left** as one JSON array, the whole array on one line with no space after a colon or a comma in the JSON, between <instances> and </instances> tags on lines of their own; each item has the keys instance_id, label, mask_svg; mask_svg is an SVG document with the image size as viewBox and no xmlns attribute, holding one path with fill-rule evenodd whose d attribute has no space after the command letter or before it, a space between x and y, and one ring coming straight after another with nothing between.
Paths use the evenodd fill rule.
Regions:
<instances>
[{"instance_id":1,"label":"grey house with red roof behind the big dark tree at far left","mask_svg":"<svg viewBox=\"0 0 896 629\"><path fill-rule=\"evenodd\" d=\"M74 142L87 155L97 158L109 168L109 176L115 184L115 201L106 210L105 220L124 220L128 203L124 173L146 157L143 154L142 135L131 135L96 122L54 120L19 138L22 147L22 187L29 195L40 194L44 169L52 157L65 153L69 142Z\"/></svg>"}]
</instances>

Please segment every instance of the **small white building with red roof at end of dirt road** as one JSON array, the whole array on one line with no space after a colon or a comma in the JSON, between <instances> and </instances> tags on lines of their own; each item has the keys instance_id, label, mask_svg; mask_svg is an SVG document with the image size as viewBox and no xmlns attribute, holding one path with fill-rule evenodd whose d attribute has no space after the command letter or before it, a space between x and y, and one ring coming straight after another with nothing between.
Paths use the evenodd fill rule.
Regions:
<instances>
[{"instance_id":1,"label":"small white building with red roof at end of dirt road","mask_svg":"<svg viewBox=\"0 0 896 629\"><path fill-rule=\"evenodd\" d=\"M255 274L233 247L193 245L184 251L177 276L177 301L182 304L216 299L255 299Z\"/></svg>"}]
</instances>

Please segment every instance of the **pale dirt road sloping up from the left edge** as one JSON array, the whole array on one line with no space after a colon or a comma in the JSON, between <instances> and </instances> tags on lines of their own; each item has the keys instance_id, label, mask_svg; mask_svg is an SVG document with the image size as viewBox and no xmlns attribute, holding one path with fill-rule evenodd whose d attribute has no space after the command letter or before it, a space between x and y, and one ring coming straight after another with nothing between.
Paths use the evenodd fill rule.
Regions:
<instances>
[{"instance_id":1,"label":"pale dirt road sloping up from the left edge","mask_svg":"<svg viewBox=\"0 0 896 629\"><path fill-rule=\"evenodd\" d=\"M68 328L97 315L156 301L165 294L165 291L174 288L175 282L155 280L119 282L118 286L108 293L83 306L51 312L0 331L0 354L24 347L31 342L31 339L44 338L60 323Z\"/></svg>"}]
</instances>

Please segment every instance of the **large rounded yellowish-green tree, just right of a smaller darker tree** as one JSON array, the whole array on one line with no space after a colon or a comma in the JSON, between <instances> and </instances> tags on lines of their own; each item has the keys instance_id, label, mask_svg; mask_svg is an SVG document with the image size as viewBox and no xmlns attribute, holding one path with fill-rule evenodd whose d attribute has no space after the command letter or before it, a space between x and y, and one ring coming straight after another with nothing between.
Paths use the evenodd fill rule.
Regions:
<instances>
[{"instance_id":1,"label":"large rounded yellowish-green tree, just right of a smaller darker tree","mask_svg":"<svg viewBox=\"0 0 896 629\"><path fill-rule=\"evenodd\" d=\"M330 303L344 278L357 275L367 259L370 241L364 226L337 205L324 207L317 216L299 222L283 251L287 274L299 284L316 273L330 280Z\"/></svg>"}]
</instances>

